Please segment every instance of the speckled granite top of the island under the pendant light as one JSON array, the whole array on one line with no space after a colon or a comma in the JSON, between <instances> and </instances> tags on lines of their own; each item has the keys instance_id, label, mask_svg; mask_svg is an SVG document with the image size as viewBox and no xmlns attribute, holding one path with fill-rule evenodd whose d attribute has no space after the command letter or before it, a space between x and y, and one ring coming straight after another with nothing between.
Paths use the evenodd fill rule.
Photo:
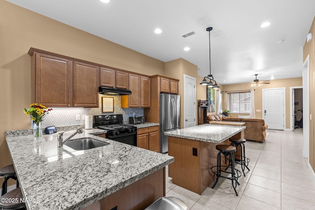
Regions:
<instances>
[{"instance_id":1,"label":"speckled granite top of the island under the pendant light","mask_svg":"<svg viewBox=\"0 0 315 210\"><path fill-rule=\"evenodd\" d=\"M183 139L192 139L197 141L221 143L234 136L246 126L219 125L219 124L201 124L189 128L164 132L166 136L173 136Z\"/></svg>"}]
</instances>

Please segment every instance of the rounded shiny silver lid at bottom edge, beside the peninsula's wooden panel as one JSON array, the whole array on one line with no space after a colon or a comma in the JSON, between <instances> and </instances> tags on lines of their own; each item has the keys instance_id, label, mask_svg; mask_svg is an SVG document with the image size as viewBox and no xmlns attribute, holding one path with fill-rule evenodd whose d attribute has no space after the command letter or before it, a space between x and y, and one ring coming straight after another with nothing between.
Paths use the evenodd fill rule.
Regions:
<instances>
[{"instance_id":1,"label":"rounded shiny silver lid at bottom edge, beside the peninsula's wooden panel","mask_svg":"<svg viewBox=\"0 0 315 210\"><path fill-rule=\"evenodd\" d=\"M186 203L176 197L162 197L145 210L187 210Z\"/></svg>"}]
</instances>

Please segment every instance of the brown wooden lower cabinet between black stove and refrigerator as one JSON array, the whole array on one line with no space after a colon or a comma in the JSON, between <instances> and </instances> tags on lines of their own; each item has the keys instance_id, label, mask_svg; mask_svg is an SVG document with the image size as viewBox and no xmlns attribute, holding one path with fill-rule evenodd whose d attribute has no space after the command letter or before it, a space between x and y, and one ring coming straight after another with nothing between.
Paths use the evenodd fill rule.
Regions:
<instances>
[{"instance_id":1,"label":"brown wooden lower cabinet between black stove and refrigerator","mask_svg":"<svg viewBox=\"0 0 315 210\"><path fill-rule=\"evenodd\" d=\"M139 128L137 130L137 147L159 152L158 126Z\"/></svg>"}]
</instances>

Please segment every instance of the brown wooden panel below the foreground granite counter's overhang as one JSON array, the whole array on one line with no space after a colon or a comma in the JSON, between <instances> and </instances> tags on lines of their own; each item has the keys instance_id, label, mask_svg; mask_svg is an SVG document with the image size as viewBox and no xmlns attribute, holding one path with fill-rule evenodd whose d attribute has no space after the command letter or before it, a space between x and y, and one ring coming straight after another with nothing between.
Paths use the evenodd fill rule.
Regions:
<instances>
[{"instance_id":1,"label":"brown wooden panel below the foreground granite counter's overhang","mask_svg":"<svg viewBox=\"0 0 315 210\"><path fill-rule=\"evenodd\" d=\"M165 196L165 168L96 201L82 210L144 210Z\"/></svg>"}]
</instances>

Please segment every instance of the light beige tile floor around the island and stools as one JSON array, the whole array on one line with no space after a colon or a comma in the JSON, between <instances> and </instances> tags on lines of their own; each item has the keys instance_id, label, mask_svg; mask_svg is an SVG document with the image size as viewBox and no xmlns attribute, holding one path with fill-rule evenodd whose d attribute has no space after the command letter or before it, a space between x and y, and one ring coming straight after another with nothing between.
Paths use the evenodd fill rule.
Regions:
<instances>
[{"instance_id":1,"label":"light beige tile floor around the island and stools","mask_svg":"<svg viewBox=\"0 0 315 210\"><path fill-rule=\"evenodd\" d=\"M239 178L239 196L226 179L198 195L173 184L167 168L166 196L182 199L189 210L315 209L315 180L302 156L303 129L267 130L263 144L247 141L245 146L251 171Z\"/></svg>"}]
</instances>

